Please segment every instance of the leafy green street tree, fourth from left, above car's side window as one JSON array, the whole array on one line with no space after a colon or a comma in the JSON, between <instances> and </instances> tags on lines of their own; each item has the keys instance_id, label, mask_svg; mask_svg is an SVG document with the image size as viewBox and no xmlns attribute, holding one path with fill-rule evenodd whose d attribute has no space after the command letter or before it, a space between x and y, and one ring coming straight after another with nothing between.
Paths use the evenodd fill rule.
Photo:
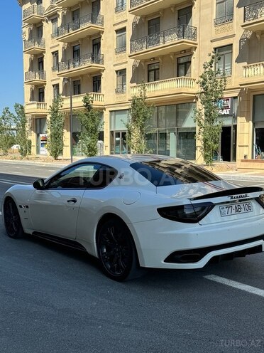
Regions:
<instances>
[{"instance_id":1,"label":"leafy green street tree, fourth from left, above car's side window","mask_svg":"<svg viewBox=\"0 0 264 353\"><path fill-rule=\"evenodd\" d=\"M82 102L84 103L84 111L77 112L77 119L82 125L79 136L80 147L82 153L87 157L92 157L97 154L97 142L102 127L101 114L92 106L94 102L92 95L88 93L84 95Z\"/></svg>"}]
</instances>

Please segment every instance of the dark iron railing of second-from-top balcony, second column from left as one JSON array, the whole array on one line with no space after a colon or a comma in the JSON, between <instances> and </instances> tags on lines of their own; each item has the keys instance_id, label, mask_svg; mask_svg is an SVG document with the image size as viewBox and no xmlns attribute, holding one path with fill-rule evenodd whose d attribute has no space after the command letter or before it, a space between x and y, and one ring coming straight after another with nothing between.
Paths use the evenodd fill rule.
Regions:
<instances>
[{"instance_id":1,"label":"dark iron railing of second-from-top balcony, second column from left","mask_svg":"<svg viewBox=\"0 0 264 353\"><path fill-rule=\"evenodd\" d=\"M57 28L57 37L65 36L65 34L67 33L77 31L78 29L83 28L88 24L104 26L104 16L99 14L88 14L86 16L81 17L80 19L76 19L75 21L60 26ZM56 36L56 34L53 33L53 36Z\"/></svg>"}]
</instances>

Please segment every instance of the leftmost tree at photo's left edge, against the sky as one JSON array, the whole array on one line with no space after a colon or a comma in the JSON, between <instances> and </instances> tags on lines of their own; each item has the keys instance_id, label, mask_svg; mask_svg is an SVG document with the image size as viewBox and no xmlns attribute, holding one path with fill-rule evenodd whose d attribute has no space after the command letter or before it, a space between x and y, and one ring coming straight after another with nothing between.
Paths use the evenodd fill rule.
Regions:
<instances>
[{"instance_id":1,"label":"leftmost tree at photo's left edge, against the sky","mask_svg":"<svg viewBox=\"0 0 264 353\"><path fill-rule=\"evenodd\" d=\"M10 112L9 107L5 107L0 115L0 149L5 155L15 143L14 127L15 116Z\"/></svg>"}]
</instances>

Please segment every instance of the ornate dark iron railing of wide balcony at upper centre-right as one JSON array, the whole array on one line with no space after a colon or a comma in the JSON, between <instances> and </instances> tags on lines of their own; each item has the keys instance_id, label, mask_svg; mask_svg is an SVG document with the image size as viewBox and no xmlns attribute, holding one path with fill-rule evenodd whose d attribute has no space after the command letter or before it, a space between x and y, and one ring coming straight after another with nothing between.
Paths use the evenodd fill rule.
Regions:
<instances>
[{"instance_id":1,"label":"ornate dark iron railing of wide balcony at upper centre-right","mask_svg":"<svg viewBox=\"0 0 264 353\"><path fill-rule=\"evenodd\" d=\"M153 33L143 38L134 39L131 41L131 53L144 51L145 49L154 46L162 46L163 44L170 43L172 41L179 41L181 39L196 41L197 28L182 25L167 29L166 31Z\"/></svg>"}]
</instances>

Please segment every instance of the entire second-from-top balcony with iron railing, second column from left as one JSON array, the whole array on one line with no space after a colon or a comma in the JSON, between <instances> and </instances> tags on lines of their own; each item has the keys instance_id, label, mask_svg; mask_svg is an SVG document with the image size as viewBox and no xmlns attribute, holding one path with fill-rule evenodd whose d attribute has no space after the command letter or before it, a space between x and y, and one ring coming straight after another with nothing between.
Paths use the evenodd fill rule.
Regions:
<instances>
[{"instance_id":1,"label":"entire second-from-top balcony with iron railing, second column from left","mask_svg":"<svg viewBox=\"0 0 264 353\"><path fill-rule=\"evenodd\" d=\"M93 36L104 30L104 16L88 14L57 28L57 40L65 43ZM53 37L56 36L53 34Z\"/></svg>"}]
</instances>

